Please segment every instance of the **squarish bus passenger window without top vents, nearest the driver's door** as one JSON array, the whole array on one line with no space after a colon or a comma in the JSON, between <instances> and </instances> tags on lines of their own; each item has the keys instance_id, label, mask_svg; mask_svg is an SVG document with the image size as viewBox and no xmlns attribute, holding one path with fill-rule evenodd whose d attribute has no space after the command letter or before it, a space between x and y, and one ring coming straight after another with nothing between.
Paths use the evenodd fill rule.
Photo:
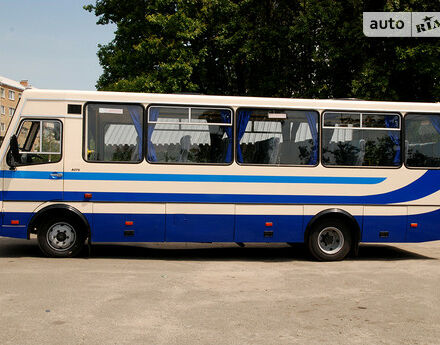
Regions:
<instances>
[{"instance_id":1,"label":"squarish bus passenger window without top vents, nearest the driver's door","mask_svg":"<svg viewBox=\"0 0 440 345\"><path fill-rule=\"evenodd\" d=\"M84 158L90 162L142 161L143 114L139 105L87 105Z\"/></svg>"}]
</instances>

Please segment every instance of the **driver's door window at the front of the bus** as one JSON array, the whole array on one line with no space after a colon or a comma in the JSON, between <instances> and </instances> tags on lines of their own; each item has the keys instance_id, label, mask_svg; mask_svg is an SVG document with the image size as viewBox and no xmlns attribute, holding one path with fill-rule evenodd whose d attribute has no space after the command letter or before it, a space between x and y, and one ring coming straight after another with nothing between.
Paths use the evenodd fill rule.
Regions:
<instances>
[{"instance_id":1,"label":"driver's door window at the front of the bus","mask_svg":"<svg viewBox=\"0 0 440 345\"><path fill-rule=\"evenodd\" d=\"M18 165L59 162L61 160L61 137L60 121L23 121L17 135L20 154Z\"/></svg>"}]
</instances>

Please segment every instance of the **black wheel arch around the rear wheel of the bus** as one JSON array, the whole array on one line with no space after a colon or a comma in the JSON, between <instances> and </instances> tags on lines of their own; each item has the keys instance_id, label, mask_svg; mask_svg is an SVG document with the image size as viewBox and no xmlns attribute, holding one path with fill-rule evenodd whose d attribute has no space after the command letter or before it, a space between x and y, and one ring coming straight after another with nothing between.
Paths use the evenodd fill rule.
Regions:
<instances>
[{"instance_id":1,"label":"black wheel arch around the rear wheel of the bus","mask_svg":"<svg viewBox=\"0 0 440 345\"><path fill-rule=\"evenodd\" d=\"M353 254L357 255L359 249L359 242L361 240L361 227L359 226L358 221L353 215L340 208L329 208L315 214L307 224L306 229L304 231L304 242L305 243L307 242L310 231L313 228L313 225L315 225L318 221L322 219L329 219L329 218L341 219L350 225L351 233L353 235L353 246L351 251Z\"/></svg>"}]
</instances>

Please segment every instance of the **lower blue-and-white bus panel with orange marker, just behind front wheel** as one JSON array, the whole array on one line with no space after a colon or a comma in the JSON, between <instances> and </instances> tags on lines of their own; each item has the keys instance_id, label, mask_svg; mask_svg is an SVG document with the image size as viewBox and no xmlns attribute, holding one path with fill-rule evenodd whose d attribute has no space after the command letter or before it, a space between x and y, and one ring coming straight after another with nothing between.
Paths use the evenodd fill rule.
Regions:
<instances>
[{"instance_id":1,"label":"lower blue-and-white bus panel with orange marker, just behind front wheel","mask_svg":"<svg viewBox=\"0 0 440 345\"><path fill-rule=\"evenodd\" d=\"M163 242L164 204L93 205L92 242Z\"/></svg>"}]
</instances>

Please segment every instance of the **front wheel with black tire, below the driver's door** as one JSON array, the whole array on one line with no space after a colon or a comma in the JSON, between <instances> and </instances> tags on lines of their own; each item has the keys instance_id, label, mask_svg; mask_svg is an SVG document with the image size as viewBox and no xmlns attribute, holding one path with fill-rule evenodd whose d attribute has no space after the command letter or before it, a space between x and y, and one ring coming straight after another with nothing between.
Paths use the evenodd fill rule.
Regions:
<instances>
[{"instance_id":1,"label":"front wheel with black tire, below the driver's door","mask_svg":"<svg viewBox=\"0 0 440 345\"><path fill-rule=\"evenodd\" d=\"M44 255L70 258L84 247L86 232L75 218L53 217L46 219L38 229L38 245Z\"/></svg>"}]
</instances>

